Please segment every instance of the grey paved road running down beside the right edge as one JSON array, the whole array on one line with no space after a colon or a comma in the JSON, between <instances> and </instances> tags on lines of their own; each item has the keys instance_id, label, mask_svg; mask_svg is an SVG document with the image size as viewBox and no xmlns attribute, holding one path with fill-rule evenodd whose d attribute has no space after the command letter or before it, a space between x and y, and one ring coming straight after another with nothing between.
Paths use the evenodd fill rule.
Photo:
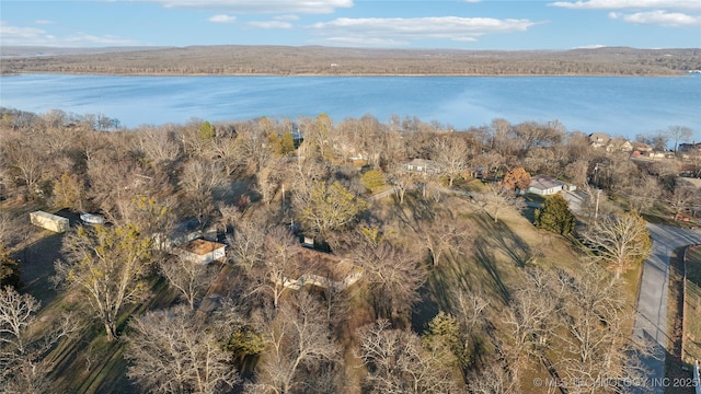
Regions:
<instances>
[{"instance_id":1,"label":"grey paved road running down beside the right edge","mask_svg":"<svg viewBox=\"0 0 701 394\"><path fill-rule=\"evenodd\" d=\"M669 283L669 256L680 246L701 243L701 232L662 224L648 224L653 251L644 263L637 297L635 335L654 344L653 356L643 362L653 382L665 378L665 348L667 346L667 288ZM655 393L664 393L663 384L652 384Z\"/></svg>"}]
</instances>

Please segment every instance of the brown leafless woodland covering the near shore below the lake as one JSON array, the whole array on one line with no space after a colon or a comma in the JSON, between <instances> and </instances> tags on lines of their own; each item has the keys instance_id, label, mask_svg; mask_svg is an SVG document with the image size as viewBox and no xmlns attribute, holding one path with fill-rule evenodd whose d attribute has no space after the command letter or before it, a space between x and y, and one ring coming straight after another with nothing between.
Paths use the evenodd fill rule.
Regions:
<instances>
[{"instance_id":1,"label":"brown leafless woodland covering the near shore below the lake","mask_svg":"<svg viewBox=\"0 0 701 394\"><path fill-rule=\"evenodd\" d=\"M701 205L678 176L701 151L635 160L556 120L99 118L0 109L9 393L614 393L646 375L645 220ZM537 174L589 197L519 195Z\"/></svg>"}]
</instances>

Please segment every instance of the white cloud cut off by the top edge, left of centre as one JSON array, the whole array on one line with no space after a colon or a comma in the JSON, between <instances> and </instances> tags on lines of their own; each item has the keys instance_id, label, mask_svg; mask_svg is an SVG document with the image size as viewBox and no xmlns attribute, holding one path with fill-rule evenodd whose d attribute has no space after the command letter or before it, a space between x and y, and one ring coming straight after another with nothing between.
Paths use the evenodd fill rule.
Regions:
<instances>
[{"instance_id":1,"label":"white cloud cut off by the top edge, left of centre","mask_svg":"<svg viewBox=\"0 0 701 394\"><path fill-rule=\"evenodd\" d=\"M353 0L143 0L165 8L189 8L245 13L332 13L353 7Z\"/></svg>"}]
</instances>

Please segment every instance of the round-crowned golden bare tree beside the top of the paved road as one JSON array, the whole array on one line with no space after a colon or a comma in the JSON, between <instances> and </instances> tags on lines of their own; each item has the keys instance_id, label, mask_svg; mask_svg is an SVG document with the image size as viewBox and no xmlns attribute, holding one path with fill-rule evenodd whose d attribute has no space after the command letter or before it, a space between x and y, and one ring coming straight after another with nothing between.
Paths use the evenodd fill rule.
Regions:
<instances>
[{"instance_id":1,"label":"round-crowned golden bare tree beside the top of the paved road","mask_svg":"<svg viewBox=\"0 0 701 394\"><path fill-rule=\"evenodd\" d=\"M583 233L584 243L596 259L613 267L618 279L632 265L650 256L652 241L646 224L634 211L609 215L589 225Z\"/></svg>"}]
</instances>

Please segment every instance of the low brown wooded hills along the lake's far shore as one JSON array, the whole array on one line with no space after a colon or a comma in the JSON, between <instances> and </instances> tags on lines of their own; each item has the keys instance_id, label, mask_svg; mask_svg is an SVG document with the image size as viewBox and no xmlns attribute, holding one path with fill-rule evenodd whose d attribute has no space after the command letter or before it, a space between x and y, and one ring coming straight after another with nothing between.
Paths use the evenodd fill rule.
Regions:
<instances>
[{"instance_id":1,"label":"low brown wooded hills along the lake's far shore","mask_svg":"<svg viewBox=\"0 0 701 394\"><path fill-rule=\"evenodd\" d=\"M0 73L125 76L681 76L701 48L357 49L287 46L1 48Z\"/></svg>"}]
</instances>

